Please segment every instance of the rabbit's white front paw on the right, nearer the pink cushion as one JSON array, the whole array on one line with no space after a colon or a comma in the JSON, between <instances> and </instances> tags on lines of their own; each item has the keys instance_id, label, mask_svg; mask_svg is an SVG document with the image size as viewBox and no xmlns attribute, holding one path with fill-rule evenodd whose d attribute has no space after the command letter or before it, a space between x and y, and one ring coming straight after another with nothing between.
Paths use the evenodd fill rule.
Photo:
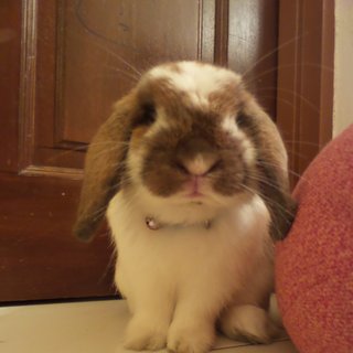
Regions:
<instances>
[{"instance_id":1,"label":"rabbit's white front paw on the right, nearer the pink cushion","mask_svg":"<svg viewBox=\"0 0 353 353\"><path fill-rule=\"evenodd\" d=\"M206 353L214 342L214 328L204 324L172 324L168 349L175 353Z\"/></svg>"}]
</instances>

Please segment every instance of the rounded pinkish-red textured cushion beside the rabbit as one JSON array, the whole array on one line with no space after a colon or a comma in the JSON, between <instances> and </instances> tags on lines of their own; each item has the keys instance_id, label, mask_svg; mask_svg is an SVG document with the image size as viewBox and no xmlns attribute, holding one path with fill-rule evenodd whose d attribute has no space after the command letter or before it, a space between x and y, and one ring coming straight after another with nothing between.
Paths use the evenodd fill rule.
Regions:
<instances>
[{"instance_id":1,"label":"rounded pinkish-red textured cushion beside the rabbit","mask_svg":"<svg viewBox=\"0 0 353 353\"><path fill-rule=\"evenodd\" d=\"M300 179L298 214L276 246L276 291L299 352L353 352L353 125Z\"/></svg>"}]
</instances>

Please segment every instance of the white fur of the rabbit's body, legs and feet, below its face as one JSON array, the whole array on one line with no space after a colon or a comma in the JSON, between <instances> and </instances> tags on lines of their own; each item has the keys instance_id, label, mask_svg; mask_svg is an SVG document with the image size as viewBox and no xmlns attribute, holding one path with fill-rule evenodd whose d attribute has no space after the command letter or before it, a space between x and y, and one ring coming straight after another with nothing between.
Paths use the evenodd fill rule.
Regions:
<instances>
[{"instance_id":1,"label":"white fur of the rabbit's body, legs and feet, below its face","mask_svg":"<svg viewBox=\"0 0 353 353\"><path fill-rule=\"evenodd\" d=\"M119 249L116 281L133 313L127 347L160 349L168 340L171 350L204 352L225 307L255 303L257 292L271 286L268 211L257 195L233 199L232 206L213 214L210 229L194 224L158 231L146 226L147 215L199 222L202 215L194 211L200 206L165 201L161 206L143 188L120 191L111 200L107 215ZM211 211L203 220L210 216ZM224 330L235 331L238 320L240 333L267 335L259 308L244 307L232 320Z\"/></svg>"}]
</instances>

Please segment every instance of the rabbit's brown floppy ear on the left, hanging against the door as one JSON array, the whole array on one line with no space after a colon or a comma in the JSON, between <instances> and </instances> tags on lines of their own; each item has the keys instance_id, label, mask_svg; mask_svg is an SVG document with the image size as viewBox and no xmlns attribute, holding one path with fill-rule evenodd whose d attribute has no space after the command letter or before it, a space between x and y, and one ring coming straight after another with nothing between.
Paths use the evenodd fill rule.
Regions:
<instances>
[{"instance_id":1,"label":"rabbit's brown floppy ear on the left, hanging against the door","mask_svg":"<svg viewBox=\"0 0 353 353\"><path fill-rule=\"evenodd\" d=\"M82 240L93 238L110 199L119 189L131 135L135 100L131 93L115 105L113 115L99 128L88 148L74 225L74 234Z\"/></svg>"}]
</instances>

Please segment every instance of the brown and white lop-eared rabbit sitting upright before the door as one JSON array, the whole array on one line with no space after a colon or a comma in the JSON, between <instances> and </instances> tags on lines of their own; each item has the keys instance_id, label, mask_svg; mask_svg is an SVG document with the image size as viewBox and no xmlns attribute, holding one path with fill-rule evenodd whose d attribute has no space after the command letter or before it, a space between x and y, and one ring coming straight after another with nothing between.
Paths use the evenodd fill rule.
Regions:
<instances>
[{"instance_id":1,"label":"brown and white lop-eared rabbit sitting upright before the door","mask_svg":"<svg viewBox=\"0 0 353 353\"><path fill-rule=\"evenodd\" d=\"M292 217L279 132L229 69L178 62L147 72L87 153L76 235L107 213L126 347L207 352L216 325L269 342L272 245Z\"/></svg>"}]
</instances>

